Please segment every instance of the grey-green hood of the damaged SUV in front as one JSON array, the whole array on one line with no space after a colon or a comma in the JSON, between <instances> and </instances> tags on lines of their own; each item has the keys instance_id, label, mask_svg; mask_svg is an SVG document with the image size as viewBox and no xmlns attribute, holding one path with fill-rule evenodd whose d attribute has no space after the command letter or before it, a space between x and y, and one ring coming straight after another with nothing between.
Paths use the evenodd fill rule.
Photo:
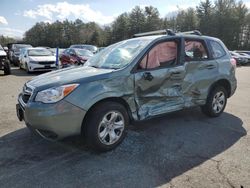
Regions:
<instances>
[{"instance_id":1,"label":"grey-green hood of the damaged SUV in front","mask_svg":"<svg viewBox=\"0 0 250 188\"><path fill-rule=\"evenodd\" d=\"M105 74L112 71L112 69L96 69L93 67L70 67L36 76L28 84L39 88L39 90L47 89L63 84L103 79Z\"/></svg>"}]
</instances>

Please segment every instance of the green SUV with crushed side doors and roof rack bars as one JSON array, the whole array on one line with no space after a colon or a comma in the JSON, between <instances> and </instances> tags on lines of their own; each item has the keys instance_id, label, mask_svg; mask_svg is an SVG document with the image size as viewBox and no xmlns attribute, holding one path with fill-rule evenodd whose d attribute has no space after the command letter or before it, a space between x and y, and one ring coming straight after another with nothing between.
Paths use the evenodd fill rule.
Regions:
<instances>
[{"instance_id":1,"label":"green SUV with crushed side doors and roof rack bars","mask_svg":"<svg viewBox=\"0 0 250 188\"><path fill-rule=\"evenodd\" d=\"M18 97L17 116L44 138L82 133L107 151L131 120L192 106L219 116L236 83L235 60L219 39L161 30L113 44L82 67L33 78Z\"/></svg>"}]
</instances>

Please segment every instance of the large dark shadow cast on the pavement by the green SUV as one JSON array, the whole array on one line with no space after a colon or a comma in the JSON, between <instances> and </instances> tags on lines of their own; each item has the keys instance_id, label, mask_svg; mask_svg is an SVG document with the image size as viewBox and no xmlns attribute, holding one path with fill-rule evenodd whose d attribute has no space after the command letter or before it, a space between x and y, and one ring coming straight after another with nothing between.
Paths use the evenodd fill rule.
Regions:
<instances>
[{"instance_id":1,"label":"large dark shadow cast on the pavement by the green SUV","mask_svg":"<svg viewBox=\"0 0 250 188\"><path fill-rule=\"evenodd\" d=\"M70 125L69 125L70 126ZM78 137L45 141L20 129L0 138L1 187L155 187L198 166L246 135L232 114L199 109L138 122L115 150L97 154Z\"/></svg>"}]
</instances>

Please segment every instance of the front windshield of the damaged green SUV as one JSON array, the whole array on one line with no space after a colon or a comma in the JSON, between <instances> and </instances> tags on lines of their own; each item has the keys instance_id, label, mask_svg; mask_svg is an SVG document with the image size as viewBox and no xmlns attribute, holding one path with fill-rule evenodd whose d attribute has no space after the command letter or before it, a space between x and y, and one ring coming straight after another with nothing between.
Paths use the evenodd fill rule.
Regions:
<instances>
[{"instance_id":1,"label":"front windshield of the damaged green SUV","mask_svg":"<svg viewBox=\"0 0 250 188\"><path fill-rule=\"evenodd\" d=\"M151 41L151 38L138 38L113 44L89 59L84 66L121 69L128 65Z\"/></svg>"}]
</instances>

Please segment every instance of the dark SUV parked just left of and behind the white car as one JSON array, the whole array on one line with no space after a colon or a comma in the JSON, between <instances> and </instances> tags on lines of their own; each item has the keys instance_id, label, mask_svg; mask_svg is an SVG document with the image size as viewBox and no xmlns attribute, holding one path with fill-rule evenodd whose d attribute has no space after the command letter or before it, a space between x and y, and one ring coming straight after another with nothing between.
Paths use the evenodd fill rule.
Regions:
<instances>
[{"instance_id":1,"label":"dark SUV parked just left of and behind the white car","mask_svg":"<svg viewBox=\"0 0 250 188\"><path fill-rule=\"evenodd\" d=\"M8 44L8 58L15 66L19 66L19 55L22 48L30 48L30 44L10 43Z\"/></svg>"}]
</instances>

